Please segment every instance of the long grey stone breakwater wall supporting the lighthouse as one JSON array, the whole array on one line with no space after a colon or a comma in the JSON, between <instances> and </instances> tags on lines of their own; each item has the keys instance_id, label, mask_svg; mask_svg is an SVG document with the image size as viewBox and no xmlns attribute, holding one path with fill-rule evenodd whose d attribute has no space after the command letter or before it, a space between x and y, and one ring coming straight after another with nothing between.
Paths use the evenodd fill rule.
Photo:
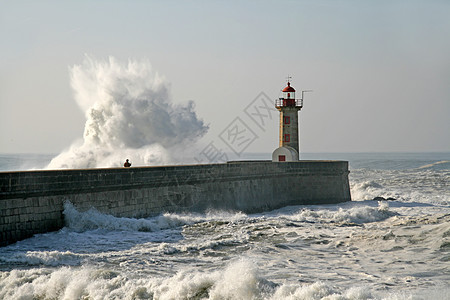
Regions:
<instances>
[{"instance_id":1,"label":"long grey stone breakwater wall supporting the lighthouse","mask_svg":"<svg viewBox=\"0 0 450 300\"><path fill-rule=\"evenodd\" d=\"M117 217L144 218L349 200L345 161L0 172L0 246L62 228L65 201L80 211L95 207Z\"/></svg>"}]
</instances>

